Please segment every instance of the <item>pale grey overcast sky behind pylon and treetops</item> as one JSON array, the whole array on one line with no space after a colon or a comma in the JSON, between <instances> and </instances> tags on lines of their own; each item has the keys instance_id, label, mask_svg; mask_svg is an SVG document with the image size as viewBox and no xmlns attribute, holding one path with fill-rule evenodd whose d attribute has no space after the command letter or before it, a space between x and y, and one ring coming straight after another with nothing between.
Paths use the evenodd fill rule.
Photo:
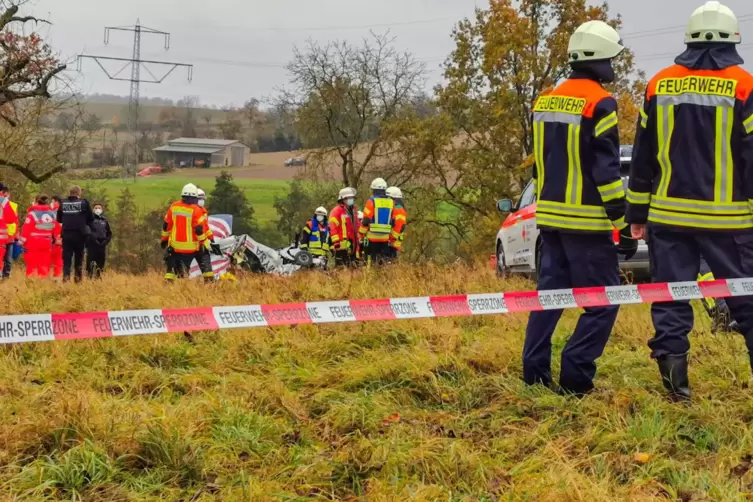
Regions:
<instances>
[{"instance_id":1,"label":"pale grey overcast sky behind pylon and treetops","mask_svg":"<svg viewBox=\"0 0 753 502\"><path fill-rule=\"evenodd\" d=\"M623 16L624 40L636 53L638 66L652 73L670 64L673 54L682 49L682 26L702 1L609 3L612 13ZM741 21L740 53L753 62L753 2L727 0L726 4ZM485 0L33 0L27 10L53 22L45 32L65 57L78 53L130 57L133 34L112 32L105 46L104 26L133 25L138 18L144 26L168 31L171 49L163 50L161 37L144 35L142 58L193 63L193 82L188 84L185 71L178 70L163 84L144 84L142 95L173 99L192 95L202 103L221 106L263 98L284 85L283 66L293 46L307 38L358 41L369 30L389 29L398 47L424 60L431 72L430 86L441 79L439 65L453 48L454 23L472 16L476 6L486 5ZM108 69L120 66L111 63ZM160 71L150 69L155 74ZM76 83L85 93L129 92L128 82L108 80L93 61L84 61Z\"/></svg>"}]
</instances>

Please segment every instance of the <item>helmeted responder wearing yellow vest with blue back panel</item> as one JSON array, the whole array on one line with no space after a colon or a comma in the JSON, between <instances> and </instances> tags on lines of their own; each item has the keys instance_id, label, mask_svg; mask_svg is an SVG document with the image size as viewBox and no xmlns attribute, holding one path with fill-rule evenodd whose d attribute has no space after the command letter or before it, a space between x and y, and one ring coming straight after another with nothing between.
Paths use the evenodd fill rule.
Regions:
<instances>
[{"instance_id":1,"label":"helmeted responder wearing yellow vest with blue back panel","mask_svg":"<svg viewBox=\"0 0 753 502\"><path fill-rule=\"evenodd\" d=\"M395 201L387 197L387 182L382 178L376 178L371 182L371 191L373 195L363 208L358 235L369 264L381 264L390 257L390 234Z\"/></svg>"}]
</instances>

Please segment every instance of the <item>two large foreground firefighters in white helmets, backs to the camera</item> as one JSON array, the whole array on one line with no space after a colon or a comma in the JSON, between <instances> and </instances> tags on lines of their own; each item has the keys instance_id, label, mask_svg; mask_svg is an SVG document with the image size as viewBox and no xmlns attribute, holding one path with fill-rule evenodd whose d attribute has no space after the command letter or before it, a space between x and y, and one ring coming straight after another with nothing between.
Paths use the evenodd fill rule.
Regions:
<instances>
[{"instance_id":1,"label":"two large foreground firefighters in white helmets, backs to the camera","mask_svg":"<svg viewBox=\"0 0 753 502\"><path fill-rule=\"evenodd\" d=\"M572 72L534 105L534 180L541 230L538 289L616 286L618 253L646 240L655 282L694 281L701 258L716 278L753 276L753 76L741 68L734 13L710 1L690 16L686 49L648 83L627 193L620 178L617 101L605 89L624 49L601 21L569 41ZM620 230L620 245L611 238ZM753 365L753 296L726 304ZM594 388L618 306L589 307L562 352L559 390ZM533 312L527 384L552 386L552 334L561 310ZM689 400L688 301L656 302L648 342L672 400Z\"/></svg>"}]
</instances>

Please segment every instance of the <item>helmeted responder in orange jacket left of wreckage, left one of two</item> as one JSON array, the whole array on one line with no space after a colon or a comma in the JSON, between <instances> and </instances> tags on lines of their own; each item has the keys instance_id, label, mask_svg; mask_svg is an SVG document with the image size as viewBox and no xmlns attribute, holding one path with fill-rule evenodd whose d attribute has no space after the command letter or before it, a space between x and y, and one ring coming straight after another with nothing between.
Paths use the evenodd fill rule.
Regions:
<instances>
[{"instance_id":1,"label":"helmeted responder in orange jacket left of wreckage, left one of two","mask_svg":"<svg viewBox=\"0 0 753 502\"><path fill-rule=\"evenodd\" d=\"M198 189L189 183L183 187L181 200L173 202L165 215L161 245L167 249L167 280L183 277L191 269L191 262L201 258L205 234L198 202Z\"/></svg>"}]
</instances>

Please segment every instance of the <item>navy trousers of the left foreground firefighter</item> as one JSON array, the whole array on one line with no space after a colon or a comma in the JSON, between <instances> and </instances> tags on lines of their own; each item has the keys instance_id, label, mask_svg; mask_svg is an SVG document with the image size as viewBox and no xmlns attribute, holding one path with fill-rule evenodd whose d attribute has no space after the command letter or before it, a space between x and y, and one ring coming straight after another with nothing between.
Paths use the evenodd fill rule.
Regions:
<instances>
[{"instance_id":1,"label":"navy trousers of the left foreground firefighter","mask_svg":"<svg viewBox=\"0 0 753 502\"><path fill-rule=\"evenodd\" d=\"M611 234L541 232L537 289L617 286L620 271ZM593 389L596 359L612 333L618 306L586 308L562 351L560 387L581 394ZM529 385L552 383L552 335L562 310L532 312L523 348L523 379Z\"/></svg>"}]
</instances>

